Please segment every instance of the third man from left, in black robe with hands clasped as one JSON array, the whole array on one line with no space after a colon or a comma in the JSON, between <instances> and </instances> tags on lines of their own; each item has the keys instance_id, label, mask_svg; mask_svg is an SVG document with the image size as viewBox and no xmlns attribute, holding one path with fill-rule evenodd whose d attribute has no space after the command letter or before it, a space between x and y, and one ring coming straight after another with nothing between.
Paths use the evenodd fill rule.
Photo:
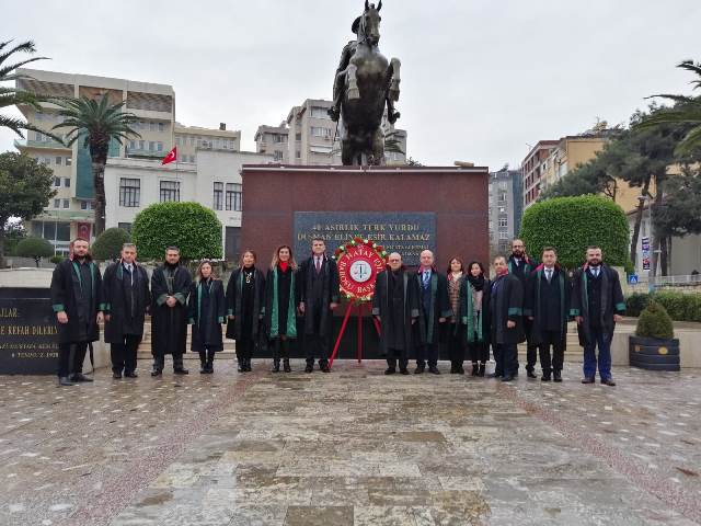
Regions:
<instances>
[{"instance_id":1,"label":"third man from left, in black robe with hands clasped","mask_svg":"<svg viewBox=\"0 0 701 526\"><path fill-rule=\"evenodd\" d=\"M186 375L183 354L187 340L187 294L192 276L180 264L180 250L169 247L165 263L151 275L151 376L163 373L165 355L173 355L173 371Z\"/></svg>"}]
</instances>

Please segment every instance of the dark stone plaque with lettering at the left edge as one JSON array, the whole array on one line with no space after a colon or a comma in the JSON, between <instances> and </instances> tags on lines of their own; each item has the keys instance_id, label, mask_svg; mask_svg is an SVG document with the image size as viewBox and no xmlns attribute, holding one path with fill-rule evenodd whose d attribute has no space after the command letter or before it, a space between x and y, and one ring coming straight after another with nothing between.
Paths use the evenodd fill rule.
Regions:
<instances>
[{"instance_id":1,"label":"dark stone plaque with lettering at the left edge","mask_svg":"<svg viewBox=\"0 0 701 526\"><path fill-rule=\"evenodd\" d=\"M47 298L0 298L0 374L49 375L58 365L56 315Z\"/></svg>"}]
</instances>

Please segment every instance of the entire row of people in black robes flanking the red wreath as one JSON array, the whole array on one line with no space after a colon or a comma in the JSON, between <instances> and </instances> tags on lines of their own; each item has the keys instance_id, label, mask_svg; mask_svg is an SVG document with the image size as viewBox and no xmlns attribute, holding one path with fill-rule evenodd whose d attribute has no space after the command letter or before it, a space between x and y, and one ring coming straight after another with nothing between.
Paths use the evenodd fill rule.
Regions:
<instances>
[{"instance_id":1,"label":"entire row of people in black robes flanking the red wreath","mask_svg":"<svg viewBox=\"0 0 701 526\"><path fill-rule=\"evenodd\" d=\"M387 355L386 374L435 375L441 346L450 358L450 373L464 374L466 358L472 376L484 377L490 347L496 362L490 376L510 381L518 375L517 345L527 342L526 371L536 378L540 356L541 380L562 381L567 322L577 321L584 347L584 384L614 385L610 343L616 322L625 310L618 273L602 262L601 250L589 247L586 263L570 275L558 264L553 248L542 251L542 263L531 259L521 240L514 240L508 259L493 262L490 279L479 261L467 268L462 259L449 262L446 273L436 270L433 252L421 253L416 271L407 270L399 253L377 276L372 315L379 321L380 346ZM92 342L104 319L105 342L111 344L113 377L137 377L137 350L143 338L146 315L151 316L151 376L162 375L165 356L173 371L186 375L187 325L191 347L199 354L200 373L214 373L215 355L226 338L235 340L240 373L252 370L256 348L273 354L273 373L291 371L290 343L298 338L302 318L307 373L329 373L333 311L338 306L338 270L314 239L311 255L297 264L289 245L276 249L264 274L256 254L246 250L226 287L209 261L203 261L195 278L170 247L165 261L150 278L136 262L136 247L126 243L119 261L104 276L92 261L88 241L71 243L71 255L59 263L51 279L53 309L59 333L59 385L92 381L82 374ZM598 354L597 354L598 348Z\"/></svg>"}]
</instances>

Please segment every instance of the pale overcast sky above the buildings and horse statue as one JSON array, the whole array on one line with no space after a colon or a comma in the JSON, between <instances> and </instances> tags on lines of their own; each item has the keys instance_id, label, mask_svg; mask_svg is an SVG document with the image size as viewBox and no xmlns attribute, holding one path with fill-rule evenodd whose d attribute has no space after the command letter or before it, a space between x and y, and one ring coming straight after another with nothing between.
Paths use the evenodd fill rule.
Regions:
<instances>
[{"instance_id":1,"label":"pale overcast sky above the buildings and horse statue","mask_svg":"<svg viewBox=\"0 0 701 526\"><path fill-rule=\"evenodd\" d=\"M0 38L34 39L37 69L172 84L176 118L242 132L331 99L361 0L36 1L3 11ZM424 164L518 167L529 146L627 122L675 68L701 60L699 0L384 0L381 52L402 61L398 126ZM0 132L0 151L12 149Z\"/></svg>"}]
</instances>

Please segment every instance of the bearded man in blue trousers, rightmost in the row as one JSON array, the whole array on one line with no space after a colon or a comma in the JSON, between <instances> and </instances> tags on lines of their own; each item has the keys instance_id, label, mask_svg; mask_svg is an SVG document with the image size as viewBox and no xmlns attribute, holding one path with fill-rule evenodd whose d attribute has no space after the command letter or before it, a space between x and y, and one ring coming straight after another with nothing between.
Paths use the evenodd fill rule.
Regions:
<instances>
[{"instance_id":1,"label":"bearded man in blue trousers, rightmost in the row","mask_svg":"<svg viewBox=\"0 0 701 526\"><path fill-rule=\"evenodd\" d=\"M579 345L584 347L584 378L582 384L594 384L597 355L601 384L614 386L611 376L611 340L616 323L625 313L625 299L618 272L604 264L599 247L587 249L587 262L572 278L570 315L577 320Z\"/></svg>"}]
</instances>

